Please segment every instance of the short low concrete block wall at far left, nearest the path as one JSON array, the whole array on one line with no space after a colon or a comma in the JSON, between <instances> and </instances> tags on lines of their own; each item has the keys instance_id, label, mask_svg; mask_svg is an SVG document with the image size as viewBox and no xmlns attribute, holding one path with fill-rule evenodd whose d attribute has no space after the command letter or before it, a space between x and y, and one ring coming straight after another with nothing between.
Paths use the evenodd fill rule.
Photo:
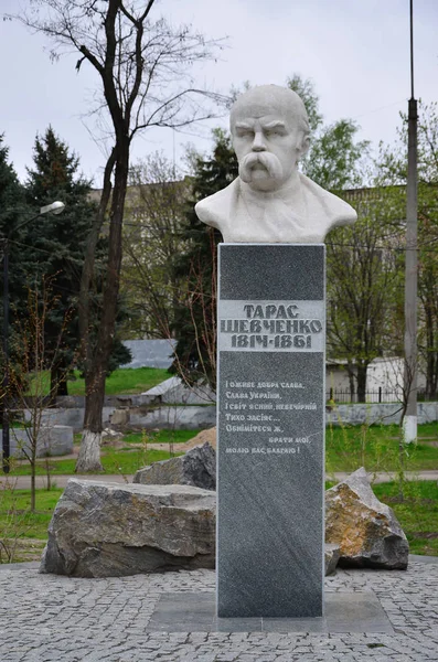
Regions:
<instances>
[{"instance_id":1,"label":"short low concrete block wall at far left, nearest the path","mask_svg":"<svg viewBox=\"0 0 438 662\"><path fill-rule=\"evenodd\" d=\"M0 447L3 447L3 434L0 430ZM23 449L29 452L29 437L21 428L10 429L10 455L24 458ZM63 456L73 452L73 428L66 425L43 426L36 439L36 457Z\"/></svg>"}]
</instances>

